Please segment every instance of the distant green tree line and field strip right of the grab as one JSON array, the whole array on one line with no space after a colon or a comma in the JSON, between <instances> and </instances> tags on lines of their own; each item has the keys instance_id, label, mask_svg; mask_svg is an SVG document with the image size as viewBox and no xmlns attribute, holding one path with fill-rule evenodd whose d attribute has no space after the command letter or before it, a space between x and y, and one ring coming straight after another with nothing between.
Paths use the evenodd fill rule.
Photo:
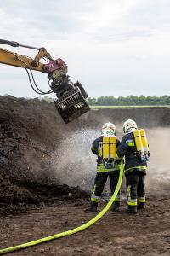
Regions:
<instances>
[{"instance_id":1,"label":"distant green tree line and field strip right of the grab","mask_svg":"<svg viewBox=\"0 0 170 256\"><path fill-rule=\"evenodd\" d=\"M100 96L98 98L88 97L90 106L154 106L170 105L170 96Z\"/></svg>"}]
</instances>

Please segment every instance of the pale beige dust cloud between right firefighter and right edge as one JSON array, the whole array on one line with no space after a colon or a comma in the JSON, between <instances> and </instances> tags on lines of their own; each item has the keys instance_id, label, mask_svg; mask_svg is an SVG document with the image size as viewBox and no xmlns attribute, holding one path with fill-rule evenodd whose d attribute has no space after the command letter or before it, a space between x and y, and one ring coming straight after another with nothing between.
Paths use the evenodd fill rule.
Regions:
<instances>
[{"instance_id":1,"label":"pale beige dust cloud between right firefighter and right edge","mask_svg":"<svg viewBox=\"0 0 170 256\"><path fill-rule=\"evenodd\" d=\"M170 192L170 128L157 127L147 132L150 162L146 176L146 189L154 194Z\"/></svg>"}]
</instances>

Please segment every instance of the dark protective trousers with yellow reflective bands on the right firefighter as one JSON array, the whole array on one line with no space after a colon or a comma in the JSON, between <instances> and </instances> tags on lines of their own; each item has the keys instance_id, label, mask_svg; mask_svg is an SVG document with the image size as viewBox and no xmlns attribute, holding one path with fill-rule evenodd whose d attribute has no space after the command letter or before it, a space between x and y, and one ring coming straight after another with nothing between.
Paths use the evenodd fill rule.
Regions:
<instances>
[{"instance_id":1,"label":"dark protective trousers with yellow reflective bands on the right firefighter","mask_svg":"<svg viewBox=\"0 0 170 256\"><path fill-rule=\"evenodd\" d=\"M136 208L145 203L144 173L127 172L127 205Z\"/></svg>"}]
</instances>

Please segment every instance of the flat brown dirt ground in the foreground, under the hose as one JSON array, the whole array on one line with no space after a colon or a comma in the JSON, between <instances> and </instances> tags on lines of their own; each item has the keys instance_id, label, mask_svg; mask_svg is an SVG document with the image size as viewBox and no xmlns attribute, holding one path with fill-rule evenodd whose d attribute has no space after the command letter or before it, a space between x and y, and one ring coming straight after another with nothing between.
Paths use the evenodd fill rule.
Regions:
<instances>
[{"instance_id":1,"label":"flat brown dirt ground in the foreground, under the hose","mask_svg":"<svg viewBox=\"0 0 170 256\"><path fill-rule=\"evenodd\" d=\"M0 248L71 230L94 217L84 212L88 201L67 203L0 220ZM100 208L104 207L104 202ZM149 196L145 210L128 215L107 212L98 223L72 236L30 247L8 255L170 255L170 199Z\"/></svg>"}]
</instances>

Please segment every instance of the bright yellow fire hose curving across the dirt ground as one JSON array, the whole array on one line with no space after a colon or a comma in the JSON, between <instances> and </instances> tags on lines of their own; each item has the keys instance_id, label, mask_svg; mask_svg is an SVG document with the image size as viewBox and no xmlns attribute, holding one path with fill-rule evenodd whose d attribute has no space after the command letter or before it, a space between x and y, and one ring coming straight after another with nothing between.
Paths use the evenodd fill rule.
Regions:
<instances>
[{"instance_id":1,"label":"bright yellow fire hose curving across the dirt ground","mask_svg":"<svg viewBox=\"0 0 170 256\"><path fill-rule=\"evenodd\" d=\"M109 210L112 203L116 199L116 195L117 195L119 189L121 188L122 177L123 177L123 163L121 162L121 164L120 164L120 175L119 175L118 183L116 185L116 190L115 190L114 194L111 196L111 200L107 203L105 208L101 212L99 212L98 215L96 215L94 218L89 220L86 224L82 224L81 226L79 226L79 227L77 227L73 230L68 230L68 231L65 231L65 232L62 232L62 233L59 233L59 234L55 234L54 236L48 236L48 237L44 237L42 239L38 239L38 240L35 240L35 241L26 242L26 243L23 243L23 244L18 245L18 246L0 249L0 255L5 254L5 253L11 253L11 252L14 252L14 251L18 251L20 249L25 249L27 247L32 247L32 246L35 246L35 245L40 244L42 242L51 241L51 240L57 239L59 237L71 236L72 234L75 234L79 231L87 229L89 226L96 223L99 220L99 218L101 218L105 214L105 212L107 212Z\"/></svg>"}]
</instances>

